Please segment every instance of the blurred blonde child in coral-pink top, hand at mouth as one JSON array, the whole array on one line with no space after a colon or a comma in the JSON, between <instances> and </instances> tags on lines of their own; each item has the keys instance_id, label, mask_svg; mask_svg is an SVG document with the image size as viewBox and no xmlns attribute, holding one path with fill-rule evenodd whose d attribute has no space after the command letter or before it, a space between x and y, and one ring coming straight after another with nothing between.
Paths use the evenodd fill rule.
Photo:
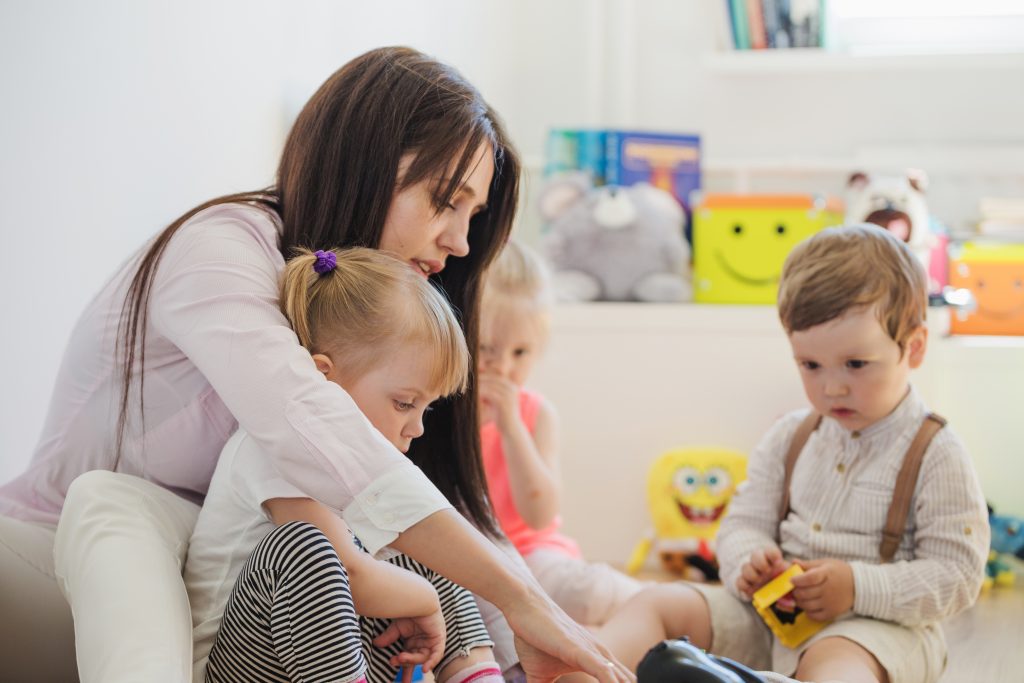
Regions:
<instances>
[{"instance_id":1,"label":"blurred blonde child in coral-pink top, hand at mouth","mask_svg":"<svg viewBox=\"0 0 1024 683\"><path fill-rule=\"evenodd\" d=\"M599 626L641 584L585 561L558 532L557 416L523 384L548 334L551 293L537 255L510 242L487 270L480 344L480 440L495 516L545 591L572 618Z\"/></svg>"}]
</instances>

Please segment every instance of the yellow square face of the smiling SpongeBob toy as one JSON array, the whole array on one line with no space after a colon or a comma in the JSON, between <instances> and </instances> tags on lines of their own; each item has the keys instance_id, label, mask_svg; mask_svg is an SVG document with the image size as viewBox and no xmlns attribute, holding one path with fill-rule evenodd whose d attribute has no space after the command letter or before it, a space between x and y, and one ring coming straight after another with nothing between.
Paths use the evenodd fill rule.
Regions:
<instances>
[{"instance_id":1,"label":"yellow square face of the smiling SpongeBob toy","mask_svg":"<svg viewBox=\"0 0 1024 683\"><path fill-rule=\"evenodd\" d=\"M711 540L746 476L746 458L724 450L679 450L651 467L647 496L658 539Z\"/></svg>"}]
</instances>

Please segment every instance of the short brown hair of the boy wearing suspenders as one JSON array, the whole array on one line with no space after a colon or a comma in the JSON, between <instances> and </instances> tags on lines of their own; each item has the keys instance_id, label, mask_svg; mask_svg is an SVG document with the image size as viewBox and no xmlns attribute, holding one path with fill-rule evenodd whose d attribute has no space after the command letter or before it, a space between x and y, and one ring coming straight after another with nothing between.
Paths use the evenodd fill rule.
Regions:
<instances>
[{"instance_id":1,"label":"short brown hair of the boy wearing suspenders","mask_svg":"<svg viewBox=\"0 0 1024 683\"><path fill-rule=\"evenodd\" d=\"M778 316L786 333L870 306L900 351L925 324L928 278L910 249L876 225L829 227L794 248L782 266Z\"/></svg>"}]
</instances>

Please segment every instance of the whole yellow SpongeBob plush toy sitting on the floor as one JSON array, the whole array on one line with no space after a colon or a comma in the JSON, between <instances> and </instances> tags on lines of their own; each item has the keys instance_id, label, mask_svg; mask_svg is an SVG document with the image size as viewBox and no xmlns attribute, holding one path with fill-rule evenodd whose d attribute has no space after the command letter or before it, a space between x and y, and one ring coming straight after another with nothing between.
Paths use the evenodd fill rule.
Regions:
<instances>
[{"instance_id":1,"label":"whole yellow SpongeBob plush toy sitting on the floor","mask_svg":"<svg viewBox=\"0 0 1024 683\"><path fill-rule=\"evenodd\" d=\"M669 571L685 574L692 566L717 579L715 536L745 478L746 457L724 449L679 449L654 461L647 476L654 531L637 545L627 570L636 573L653 547Z\"/></svg>"}]
</instances>

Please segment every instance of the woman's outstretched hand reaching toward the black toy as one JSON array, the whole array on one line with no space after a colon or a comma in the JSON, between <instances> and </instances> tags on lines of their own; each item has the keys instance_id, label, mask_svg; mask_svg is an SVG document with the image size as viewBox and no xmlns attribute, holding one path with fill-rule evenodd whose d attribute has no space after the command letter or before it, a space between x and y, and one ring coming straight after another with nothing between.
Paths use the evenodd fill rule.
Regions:
<instances>
[{"instance_id":1,"label":"woman's outstretched hand reaching toward the black toy","mask_svg":"<svg viewBox=\"0 0 1024 683\"><path fill-rule=\"evenodd\" d=\"M515 632L519 666L529 683L553 682L582 671L600 683L633 683L636 676L620 664L592 633L573 622L545 596L535 596L505 610Z\"/></svg>"}]
</instances>

